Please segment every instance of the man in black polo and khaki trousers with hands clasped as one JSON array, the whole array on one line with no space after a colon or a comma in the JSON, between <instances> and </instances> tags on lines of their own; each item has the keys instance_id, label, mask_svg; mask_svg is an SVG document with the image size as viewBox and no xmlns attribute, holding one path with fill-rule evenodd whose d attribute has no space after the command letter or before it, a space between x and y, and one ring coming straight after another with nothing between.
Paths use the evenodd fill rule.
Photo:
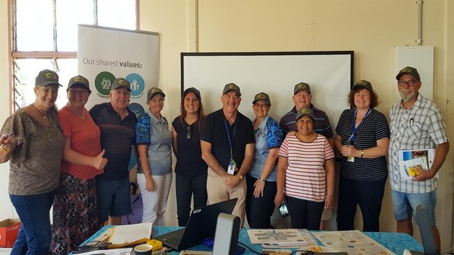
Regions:
<instances>
[{"instance_id":1,"label":"man in black polo and khaki trousers with hands clasped","mask_svg":"<svg viewBox=\"0 0 454 255\"><path fill-rule=\"evenodd\" d=\"M238 111L240 87L224 86L222 109L208 114L200 130L202 158L208 165L208 204L237 198L232 215L244 224L246 180L243 178L254 157L254 127L249 118Z\"/></svg>"}]
</instances>

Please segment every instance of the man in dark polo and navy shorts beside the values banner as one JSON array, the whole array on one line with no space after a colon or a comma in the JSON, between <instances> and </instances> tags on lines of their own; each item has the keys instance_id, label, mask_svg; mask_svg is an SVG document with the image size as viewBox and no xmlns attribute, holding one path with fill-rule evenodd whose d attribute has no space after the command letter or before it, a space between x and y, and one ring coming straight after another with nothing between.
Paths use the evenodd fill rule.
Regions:
<instances>
[{"instance_id":1,"label":"man in dark polo and navy shorts beside the values banner","mask_svg":"<svg viewBox=\"0 0 454 255\"><path fill-rule=\"evenodd\" d=\"M117 78L109 92L110 102L95 105L89 113L101 130L101 148L108 163L96 176L98 222L119 225L131 212L128 165L136 143L137 118L129 108L130 84Z\"/></svg>"}]
</instances>

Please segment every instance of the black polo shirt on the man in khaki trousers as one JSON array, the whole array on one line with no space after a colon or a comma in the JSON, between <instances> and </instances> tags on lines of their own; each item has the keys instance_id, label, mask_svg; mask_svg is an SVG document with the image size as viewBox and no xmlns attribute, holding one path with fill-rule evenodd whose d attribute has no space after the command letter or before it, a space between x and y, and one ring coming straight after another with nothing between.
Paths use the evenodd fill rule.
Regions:
<instances>
[{"instance_id":1,"label":"black polo shirt on the man in khaki trousers","mask_svg":"<svg viewBox=\"0 0 454 255\"><path fill-rule=\"evenodd\" d=\"M211 153L219 164L227 169L230 162L230 144L225 125L228 126L228 133L232 142L233 160L237 164L237 168L240 169L244 160L246 145L255 142L254 127L249 118L238 111L235 121L232 125L229 125L222 109L214 111L203 120L200 140L212 144Z\"/></svg>"}]
</instances>

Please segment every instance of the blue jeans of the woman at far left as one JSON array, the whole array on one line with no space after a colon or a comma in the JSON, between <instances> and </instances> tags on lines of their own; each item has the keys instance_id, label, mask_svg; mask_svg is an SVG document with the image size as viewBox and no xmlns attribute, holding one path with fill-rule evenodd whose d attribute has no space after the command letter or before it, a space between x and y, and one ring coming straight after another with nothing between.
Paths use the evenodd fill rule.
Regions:
<instances>
[{"instance_id":1,"label":"blue jeans of the woman at far left","mask_svg":"<svg viewBox=\"0 0 454 255\"><path fill-rule=\"evenodd\" d=\"M21 226L14 242L12 255L41 255L49 253L49 211L54 202L55 191L33 195L12 195L11 203L19 215Z\"/></svg>"}]
</instances>

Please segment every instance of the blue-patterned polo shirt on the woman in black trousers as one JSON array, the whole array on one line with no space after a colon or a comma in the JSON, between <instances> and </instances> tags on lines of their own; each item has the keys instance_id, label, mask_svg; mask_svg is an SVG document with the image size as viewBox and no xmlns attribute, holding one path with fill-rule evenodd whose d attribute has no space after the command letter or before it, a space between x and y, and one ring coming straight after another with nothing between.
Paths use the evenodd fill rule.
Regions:
<instances>
[{"instance_id":1,"label":"blue-patterned polo shirt on the woman in black trousers","mask_svg":"<svg viewBox=\"0 0 454 255\"><path fill-rule=\"evenodd\" d=\"M253 121L253 126L254 126ZM254 160L251 164L251 169L247 173L249 176L259 178L265 167L265 162L270 154L270 149L279 148L284 140L284 132L281 127L274 121L274 118L266 116L262 123L258 125L257 129L254 130L256 137L256 144L254 146ZM275 182L276 181L276 170L277 164L274 165L272 172L266 180Z\"/></svg>"}]
</instances>

